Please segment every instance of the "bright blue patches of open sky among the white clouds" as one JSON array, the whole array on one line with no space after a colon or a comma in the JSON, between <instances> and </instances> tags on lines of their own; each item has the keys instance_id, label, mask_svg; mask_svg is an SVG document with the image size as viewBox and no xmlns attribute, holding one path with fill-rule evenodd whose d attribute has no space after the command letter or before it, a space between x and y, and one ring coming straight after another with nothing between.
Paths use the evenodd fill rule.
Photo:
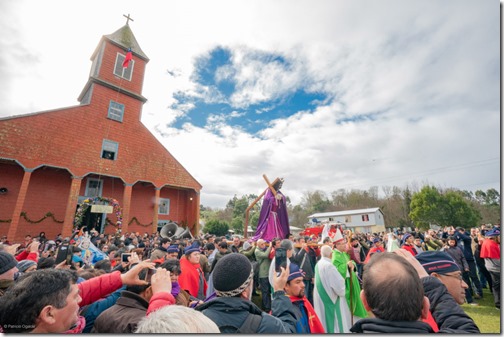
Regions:
<instances>
[{"instance_id":1,"label":"bright blue patches of open sky among the white clouds","mask_svg":"<svg viewBox=\"0 0 504 337\"><path fill-rule=\"evenodd\" d=\"M240 128L255 134L268 127L274 119L288 118L299 111L313 111L320 104L327 104L325 93L307 92L305 88L286 88L285 92L273 95L275 98L260 103L250 102L246 108L231 104L231 96L236 91L236 66L233 64L232 51L217 47L195 61L195 72L191 79L196 83L198 96L184 92L174 95L177 109L188 103L194 108L179 117L172 127L181 128L185 123L197 127L210 127L215 122ZM291 64L282 55L251 51L246 57L264 65L275 63L282 71L290 71ZM265 95L269 96L269 95Z\"/></svg>"}]
</instances>

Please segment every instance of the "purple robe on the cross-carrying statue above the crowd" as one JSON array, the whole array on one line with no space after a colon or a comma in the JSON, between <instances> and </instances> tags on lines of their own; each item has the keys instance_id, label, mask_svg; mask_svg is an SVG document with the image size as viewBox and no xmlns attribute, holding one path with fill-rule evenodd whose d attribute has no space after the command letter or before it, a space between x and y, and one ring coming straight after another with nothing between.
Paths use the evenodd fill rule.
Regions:
<instances>
[{"instance_id":1,"label":"purple robe on the cross-carrying statue above the crowd","mask_svg":"<svg viewBox=\"0 0 504 337\"><path fill-rule=\"evenodd\" d=\"M255 235L251 239L252 241L259 239L271 241L274 238L285 239L289 236L289 217L285 196L280 191L277 191L277 195L282 198L280 200L276 199L269 188L266 191L261 214L259 214L259 222Z\"/></svg>"}]
</instances>

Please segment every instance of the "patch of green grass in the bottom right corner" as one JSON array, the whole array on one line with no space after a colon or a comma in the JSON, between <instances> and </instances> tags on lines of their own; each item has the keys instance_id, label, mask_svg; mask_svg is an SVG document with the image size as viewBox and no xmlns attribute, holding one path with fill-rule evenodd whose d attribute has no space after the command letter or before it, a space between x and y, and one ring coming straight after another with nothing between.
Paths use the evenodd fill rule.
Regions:
<instances>
[{"instance_id":1,"label":"patch of green grass in the bottom right corner","mask_svg":"<svg viewBox=\"0 0 504 337\"><path fill-rule=\"evenodd\" d=\"M476 323L481 333L501 333L500 310L497 310L493 294L483 288L483 298L474 300L479 306L463 304L462 308Z\"/></svg>"}]
</instances>

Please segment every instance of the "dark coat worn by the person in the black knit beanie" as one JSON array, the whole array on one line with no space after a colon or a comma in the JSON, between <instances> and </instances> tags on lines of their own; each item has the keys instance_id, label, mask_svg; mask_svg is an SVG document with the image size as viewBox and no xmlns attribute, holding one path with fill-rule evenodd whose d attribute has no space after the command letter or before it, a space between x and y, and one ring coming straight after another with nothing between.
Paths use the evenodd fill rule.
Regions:
<instances>
[{"instance_id":1,"label":"dark coat worn by the person in the black knit beanie","mask_svg":"<svg viewBox=\"0 0 504 337\"><path fill-rule=\"evenodd\" d=\"M248 315L261 315L261 324L256 333L295 333L296 314L294 307L284 292L273 294L271 303L272 315L259 309L254 303L240 297L217 297L196 307L217 326L234 326L239 328Z\"/></svg>"}]
</instances>

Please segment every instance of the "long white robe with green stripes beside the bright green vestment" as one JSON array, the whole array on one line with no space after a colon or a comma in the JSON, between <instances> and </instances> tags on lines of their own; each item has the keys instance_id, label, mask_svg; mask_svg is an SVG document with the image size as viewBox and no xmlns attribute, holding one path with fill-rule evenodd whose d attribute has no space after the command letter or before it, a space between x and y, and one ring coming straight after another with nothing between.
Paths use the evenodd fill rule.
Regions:
<instances>
[{"instance_id":1,"label":"long white robe with green stripes beside the bright green vestment","mask_svg":"<svg viewBox=\"0 0 504 337\"><path fill-rule=\"evenodd\" d=\"M338 315L335 310L333 310L332 314L334 316L334 333L350 333L350 328L352 327L351 322L351 313L350 308L348 307L348 303L345 298L345 280L341 277L341 274L338 272L336 267L332 264L331 259L327 257L321 257L320 261L317 262L317 268L320 275L320 281L322 286L324 287L327 295L330 297L333 303L336 303L336 300L339 297L339 307L336 307L336 310L339 310L341 315L341 326L343 331L340 331L340 324L338 324ZM315 276L316 278L317 276ZM330 308L326 308L322 298L317 289L317 280L315 280L315 287L313 289L313 307L317 316L322 322L325 331L327 331L327 323L326 323L326 310L330 310ZM329 333L329 331L327 331Z\"/></svg>"}]
</instances>

